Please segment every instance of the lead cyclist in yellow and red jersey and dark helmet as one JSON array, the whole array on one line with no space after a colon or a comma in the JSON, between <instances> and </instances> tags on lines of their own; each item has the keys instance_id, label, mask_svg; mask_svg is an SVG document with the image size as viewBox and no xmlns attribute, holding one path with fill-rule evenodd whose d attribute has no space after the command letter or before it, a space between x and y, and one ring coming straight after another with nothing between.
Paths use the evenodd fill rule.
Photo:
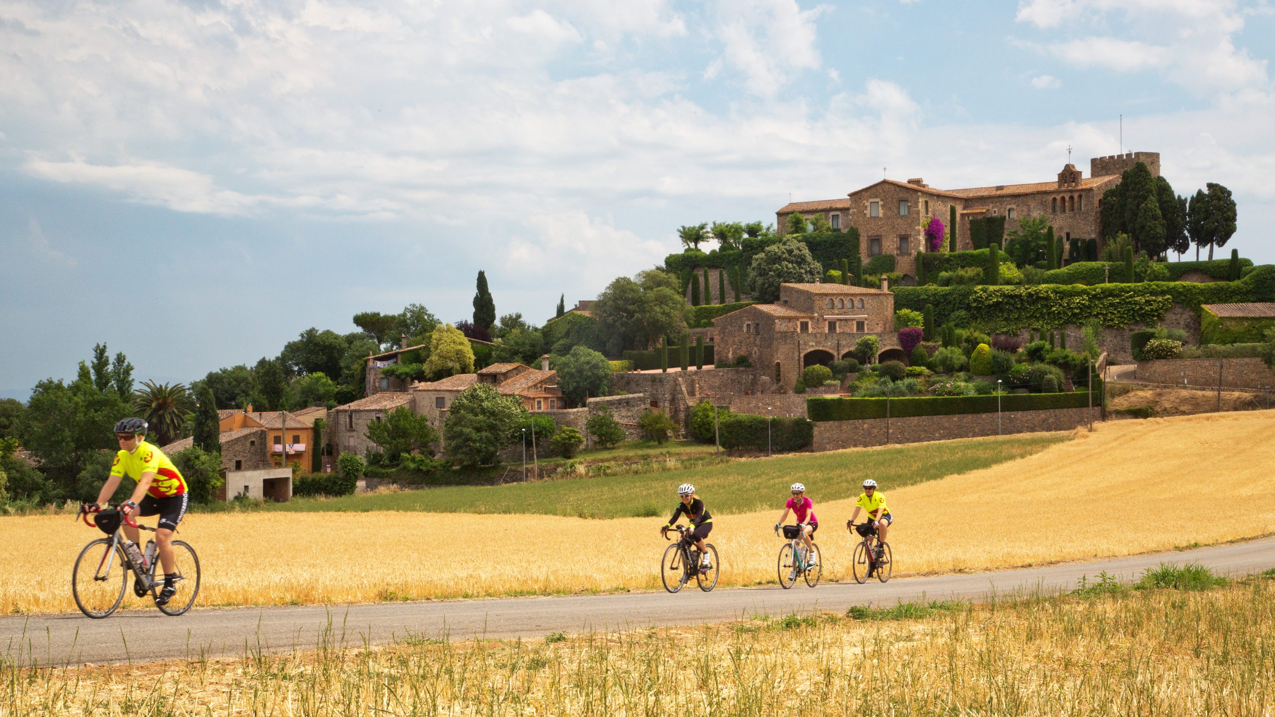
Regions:
<instances>
[{"instance_id":1,"label":"lead cyclist in yellow and red jersey and dark helmet","mask_svg":"<svg viewBox=\"0 0 1275 717\"><path fill-rule=\"evenodd\" d=\"M159 564L163 565L164 584L156 602L164 605L177 592L175 583L181 579L173 570L172 533L186 514L190 496L186 494L186 478L181 477L177 466L158 447L144 440L147 427L142 418L124 418L115 425L120 452L115 454L111 476L97 495L97 504L89 509L97 510L99 505L105 505L115 495L121 477L129 476L138 482L133 496L120 504L120 512L125 515L159 515L156 547L159 551ZM124 535L133 542L139 540L136 528L124 526Z\"/></svg>"}]
</instances>

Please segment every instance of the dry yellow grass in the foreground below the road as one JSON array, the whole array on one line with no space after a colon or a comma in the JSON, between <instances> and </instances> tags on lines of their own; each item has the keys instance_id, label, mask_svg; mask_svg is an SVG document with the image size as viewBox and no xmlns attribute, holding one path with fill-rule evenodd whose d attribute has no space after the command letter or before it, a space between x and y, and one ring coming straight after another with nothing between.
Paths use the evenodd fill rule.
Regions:
<instances>
[{"instance_id":1,"label":"dry yellow grass in the foreground below the road","mask_svg":"<svg viewBox=\"0 0 1275 717\"><path fill-rule=\"evenodd\" d=\"M1247 717L1275 711L1275 589L1266 580L1210 592L945 607L922 619L789 615L529 642L417 640L372 649L329 642L317 652L136 666L36 670L0 658L0 713Z\"/></svg>"}]
</instances>

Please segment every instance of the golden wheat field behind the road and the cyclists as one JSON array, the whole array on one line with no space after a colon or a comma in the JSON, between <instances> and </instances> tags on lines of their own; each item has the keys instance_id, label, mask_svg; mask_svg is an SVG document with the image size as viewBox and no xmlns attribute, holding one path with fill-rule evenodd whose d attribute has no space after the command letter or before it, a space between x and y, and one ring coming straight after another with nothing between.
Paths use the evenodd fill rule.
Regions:
<instances>
[{"instance_id":1,"label":"golden wheat field behind the road and the cyclists","mask_svg":"<svg viewBox=\"0 0 1275 717\"><path fill-rule=\"evenodd\" d=\"M1275 532L1275 412L1102 424L1034 455L890 490L895 574L1126 555ZM845 452L853 461L854 452ZM793 476L799 480L801 476ZM853 501L819 501L825 579L848 574ZM669 508L674 503L671 487ZM703 496L709 508L713 496ZM775 579L775 510L715 515L720 584ZM286 605L657 588L663 518L430 513L193 514L200 605ZM97 537L65 515L0 518L4 612L74 611ZM129 597L125 606L138 606Z\"/></svg>"}]
</instances>

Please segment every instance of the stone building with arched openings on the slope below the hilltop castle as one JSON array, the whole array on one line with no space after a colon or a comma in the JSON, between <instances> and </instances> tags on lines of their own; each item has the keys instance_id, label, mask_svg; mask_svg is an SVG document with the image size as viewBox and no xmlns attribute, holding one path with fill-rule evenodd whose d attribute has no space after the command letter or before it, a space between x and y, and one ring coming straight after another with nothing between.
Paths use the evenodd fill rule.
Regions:
<instances>
[{"instance_id":1,"label":"stone building with arched openings on the slope below the hilltop castle","mask_svg":"<svg viewBox=\"0 0 1275 717\"><path fill-rule=\"evenodd\" d=\"M878 361L907 361L894 332L894 293L836 283L785 283L775 304L754 304L713 320L717 351L747 356L779 389L802 369L845 358L866 336L880 342Z\"/></svg>"}]
</instances>

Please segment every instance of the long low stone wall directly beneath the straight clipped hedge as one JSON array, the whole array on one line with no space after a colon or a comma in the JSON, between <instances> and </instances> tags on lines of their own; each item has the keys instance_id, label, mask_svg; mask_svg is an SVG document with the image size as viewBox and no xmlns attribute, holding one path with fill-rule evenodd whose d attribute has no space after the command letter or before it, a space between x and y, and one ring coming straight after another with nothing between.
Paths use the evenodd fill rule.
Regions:
<instances>
[{"instance_id":1,"label":"long low stone wall directly beneath the straight clipped hedge","mask_svg":"<svg viewBox=\"0 0 1275 717\"><path fill-rule=\"evenodd\" d=\"M1099 420L1100 408L1058 408L1051 411L1007 411L1005 413L961 413L956 416L914 416L909 418L868 418L861 421L820 421L815 424L815 450L838 450L922 443L989 435L1067 431ZM1000 431L997 431L1000 416ZM889 441L886 440L889 438Z\"/></svg>"}]
</instances>

